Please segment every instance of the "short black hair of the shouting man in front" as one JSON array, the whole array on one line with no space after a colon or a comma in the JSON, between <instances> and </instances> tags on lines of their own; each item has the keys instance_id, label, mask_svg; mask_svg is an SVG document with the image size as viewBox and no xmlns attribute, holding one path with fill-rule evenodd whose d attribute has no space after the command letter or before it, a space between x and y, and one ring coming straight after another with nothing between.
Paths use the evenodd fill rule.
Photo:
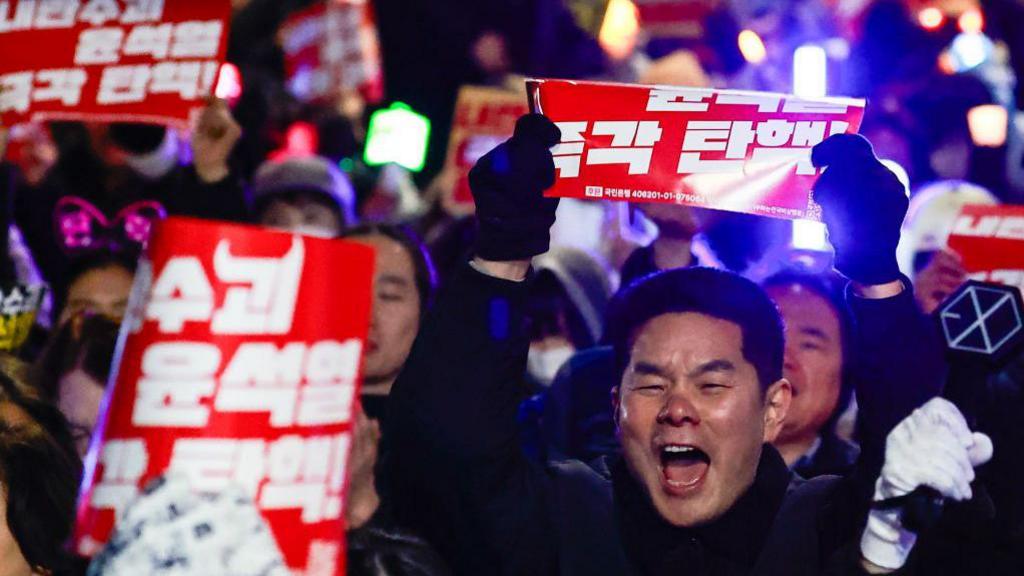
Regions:
<instances>
[{"instance_id":1,"label":"short black hair of the shouting man in front","mask_svg":"<svg viewBox=\"0 0 1024 576\"><path fill-rule=\"evenodd\" d=\"M655 273L615 295L608 310L605 340L614 347L620 377L629 365L640 328L674 313L702 314L739 326L743 358L754 365L761 388L767 389L782 377L785 344L778 308L757 284L709 268Z\"/></svg>"}]
</instances>

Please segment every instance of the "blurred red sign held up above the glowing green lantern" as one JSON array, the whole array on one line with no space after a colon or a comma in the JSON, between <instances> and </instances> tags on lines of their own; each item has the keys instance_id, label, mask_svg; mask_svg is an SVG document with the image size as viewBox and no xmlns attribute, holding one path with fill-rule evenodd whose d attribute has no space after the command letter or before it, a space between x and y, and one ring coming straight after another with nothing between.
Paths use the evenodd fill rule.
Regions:
<instances>
[{"instance_id":1,"label":"blurred red sign held up above the glowing green lantern","mask_svg":"<svg viewBox=\"0 0 1024 576\"><path fill-rule=\"evenodd\" d=\"M377 25L367 0L325 0L295 12L279 31L288 89L303 101L357 91L383 96Z\"/></svg>"}]
</instances>

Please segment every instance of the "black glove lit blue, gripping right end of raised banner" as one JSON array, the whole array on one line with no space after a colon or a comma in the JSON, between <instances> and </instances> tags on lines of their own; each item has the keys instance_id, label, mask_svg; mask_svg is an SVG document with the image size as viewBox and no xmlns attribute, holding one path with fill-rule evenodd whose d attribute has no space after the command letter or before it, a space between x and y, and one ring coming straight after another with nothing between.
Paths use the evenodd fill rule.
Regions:
<instances>
[{"instance_id":1,"label":"black glove lit blue, gripping right end of raised banner","mask_svg":"<svg viewBox=\"0 0 1024 576\"><path fill-rule=\"evenodd\" d=\"M814 147L811 161L828 167L814 184L814 200L836 248L836 270L867 285L898 280L896 245L908 203L903 183L859 134L829 136Z\"/></svg>"}]
</instances>

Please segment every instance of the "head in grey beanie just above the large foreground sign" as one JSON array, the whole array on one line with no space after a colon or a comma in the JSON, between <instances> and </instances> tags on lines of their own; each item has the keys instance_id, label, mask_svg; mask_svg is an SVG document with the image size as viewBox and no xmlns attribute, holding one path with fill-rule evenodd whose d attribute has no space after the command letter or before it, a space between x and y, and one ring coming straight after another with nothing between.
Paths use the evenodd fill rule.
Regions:
<instances>
[{"instance_id":1,"label":"head in grey beanie just above the large foreground sign","mask_svg":"<svg viewBox=\"0 0 1024 576\"><path fill-rule=\"evenodd\" d=\"M318 156L264 162L253 178L252 195L262 225L335 238L355 223L352 184Z\"/></svg>"}]
</instances>

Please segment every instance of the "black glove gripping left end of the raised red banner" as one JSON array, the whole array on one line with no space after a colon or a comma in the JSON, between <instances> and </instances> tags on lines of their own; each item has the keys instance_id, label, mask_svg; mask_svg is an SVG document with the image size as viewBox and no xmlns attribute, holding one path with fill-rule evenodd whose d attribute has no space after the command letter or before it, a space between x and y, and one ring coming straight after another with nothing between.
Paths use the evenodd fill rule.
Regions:
<instances>
[{"instance_id":1,"label":"black glove gripping left end of the raised red banner","mask_svg":"<svg viewBox=\"0 0 1024 576\"><path fill-rule=\"evenodd\" d=\"M488 152L469 172L479 236L476 254L496 261L528 260L548 251L557 198L551 147L561 132L540 114L519 118L511 138Z\"/></svg>"}]
</instances>

